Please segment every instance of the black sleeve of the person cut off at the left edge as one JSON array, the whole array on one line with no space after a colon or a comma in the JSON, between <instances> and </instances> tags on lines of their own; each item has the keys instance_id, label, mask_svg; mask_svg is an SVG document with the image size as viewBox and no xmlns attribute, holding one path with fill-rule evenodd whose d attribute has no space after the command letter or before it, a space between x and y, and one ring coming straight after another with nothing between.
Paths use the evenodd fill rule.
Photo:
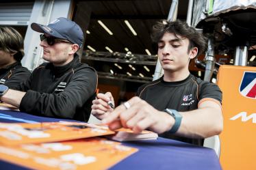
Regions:
<instances>
[{"instance_id":1,"label":"black sleeve of the person cut off at the left edge","mask_svg":"<svg viewBox=\"0 0 256 170\"><path fill-rule=\"evenodd\" d=\"M10 78L5 81L5 85L10 89L18 89L21 83L27 81L30 74L31 73L29 70L27 70L27 68L16 69Z\"/></svg>"}]
</instances>

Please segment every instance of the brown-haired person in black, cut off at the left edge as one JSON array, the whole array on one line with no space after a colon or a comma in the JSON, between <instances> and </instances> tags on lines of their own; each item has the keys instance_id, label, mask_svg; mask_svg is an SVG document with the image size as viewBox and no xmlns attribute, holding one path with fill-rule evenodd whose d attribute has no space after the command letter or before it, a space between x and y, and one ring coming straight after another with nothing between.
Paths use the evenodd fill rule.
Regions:
<instances>
[{"instance_id":1,"label":"brown-haired person in black, cut off at the left edge","mask_svg":"<svg viewBox=\"0 0 256 170\"><path fill-rule=\"evenodd\" d=\"M23 46L23 37L16 29L0 27L0 85L14 89L30 76L29 70L21 66Z\"/></svg>"}]
</instances>

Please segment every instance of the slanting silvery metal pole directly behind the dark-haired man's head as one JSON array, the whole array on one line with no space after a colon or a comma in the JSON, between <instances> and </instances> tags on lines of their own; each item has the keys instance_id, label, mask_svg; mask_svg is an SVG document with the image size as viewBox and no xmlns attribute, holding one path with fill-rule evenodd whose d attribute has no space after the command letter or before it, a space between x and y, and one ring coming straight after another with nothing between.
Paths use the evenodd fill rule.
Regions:
<instances>
[{"instance_id":1,"label":"slanting silvery metal pole directly behind the dark-haired man's head","mask_svg":"<svg viewBox=\"0 0 256 170\"><path fill-rule=\"evenodd\" d=\"M176 20L177 11L178 11L179 0L172 0L172 4L170 5L170 11L168 14L167 20ZM164 70L162 69L161 63L159 59L157 59L157 65L155 66L155 73L153 76L153 81L159 79L163 75Z\"/></svg>"}]
</instances>

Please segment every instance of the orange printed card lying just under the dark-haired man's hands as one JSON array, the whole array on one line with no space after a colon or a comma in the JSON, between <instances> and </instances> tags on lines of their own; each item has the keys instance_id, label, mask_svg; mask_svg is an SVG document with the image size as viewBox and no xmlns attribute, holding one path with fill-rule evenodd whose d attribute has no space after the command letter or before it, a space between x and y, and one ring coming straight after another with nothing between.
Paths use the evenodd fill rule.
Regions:
<instances>
[{"instance_id":1,"label":"orange printed card lying just under the dark-haired man's hands","mask_svg":"<svg viewBox=\"0 0 256 170\"><path fill-rule=\"evenodd\" d=\"M66 141L107 134L114 134L114 132L105 126L79 122L0 123L0 143L2 145Z\"/></svg>"}]
</instances>

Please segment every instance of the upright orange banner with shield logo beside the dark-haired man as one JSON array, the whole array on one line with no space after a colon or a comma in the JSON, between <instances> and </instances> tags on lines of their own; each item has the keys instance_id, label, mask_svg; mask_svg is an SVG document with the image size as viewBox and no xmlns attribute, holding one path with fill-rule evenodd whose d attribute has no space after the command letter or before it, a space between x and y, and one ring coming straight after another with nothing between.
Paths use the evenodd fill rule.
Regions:
<instances>
[{"instance_id":1,"label":"upright orange banner with shield logo beside the dark-haired man","mask_svg":"<svg viewBox=\"0 0 256 170\"><path fill-rule=\"evenodd\" d=\"M224 129L220 134L223 169L256 169L256 68L220 66Z\"/></svg>"}]
</instances>

